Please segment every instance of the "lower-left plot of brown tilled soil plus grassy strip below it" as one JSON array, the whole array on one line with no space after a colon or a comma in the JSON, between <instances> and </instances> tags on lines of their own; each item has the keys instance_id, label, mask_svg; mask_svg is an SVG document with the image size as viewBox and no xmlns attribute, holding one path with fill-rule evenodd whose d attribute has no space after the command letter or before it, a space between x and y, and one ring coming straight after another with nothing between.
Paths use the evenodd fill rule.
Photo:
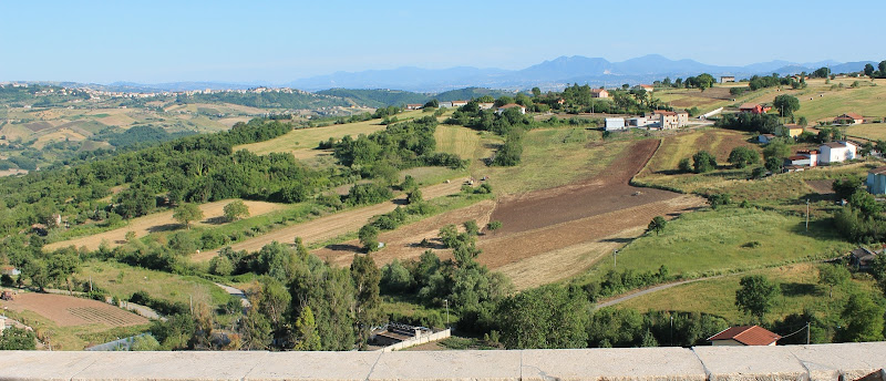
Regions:
<instances>
[{"instance_id":1,"label":"lower-left plot of brown tilled soil plus grassy strip below it","mask_svg":"<svg viewBox=\"0 0 886 381\"><path fill-rule=\"evenodd\" d=\"M19 292L14 300L0 300L0 307L10 318L32 327L53 350L81 350L137 334L148 323L115 306L63 295Z\"/></svg>"}]
</instances>

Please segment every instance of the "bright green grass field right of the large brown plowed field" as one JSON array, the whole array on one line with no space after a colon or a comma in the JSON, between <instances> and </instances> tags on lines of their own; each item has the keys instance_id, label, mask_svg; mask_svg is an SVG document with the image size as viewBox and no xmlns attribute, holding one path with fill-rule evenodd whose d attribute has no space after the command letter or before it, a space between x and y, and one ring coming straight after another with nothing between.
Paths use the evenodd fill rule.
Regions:
<instances>
[{"instance_id":1,"label":"bright green grass field right of the large brown plowed field","mask_svg":"<svg viewBox=\"0 0 886 381\"><path fill-rule=\"evenodd\" d=\"M618 270L656 271L664 265L671 274L696 278L810 257L833 258L853 247L827 219L814 218L808 233L803 223L800 216L755 208L684 214L668 223L660 236L646 235L622 248ZM611 268L610 259L601 261L589 276L601 279Z\"/></svg>"}]
</instances>

